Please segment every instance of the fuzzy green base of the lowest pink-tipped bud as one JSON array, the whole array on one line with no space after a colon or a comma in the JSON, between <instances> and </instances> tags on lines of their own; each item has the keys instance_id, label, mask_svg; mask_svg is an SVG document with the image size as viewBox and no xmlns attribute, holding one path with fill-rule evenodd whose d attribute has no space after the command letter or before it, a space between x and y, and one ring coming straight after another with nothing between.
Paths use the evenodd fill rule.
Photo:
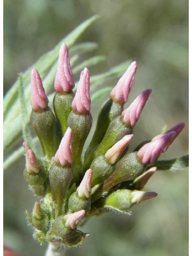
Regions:
<instances>
[{"instance_id":1,"label":"fuzzy green base of the lowest pink-tipped bud","mask_svg":"<svg viewBox=\"0 0 192 256\"><path fill-rule=\"evenodd\" d=\"M75 229L68 229L65 226L64 215L58 216L53 222L51 228L46 234L46 240L48 242L54 242L55 240L62 241L62 238L72 236L76 232Z\"/></svg>"}]
</instances>

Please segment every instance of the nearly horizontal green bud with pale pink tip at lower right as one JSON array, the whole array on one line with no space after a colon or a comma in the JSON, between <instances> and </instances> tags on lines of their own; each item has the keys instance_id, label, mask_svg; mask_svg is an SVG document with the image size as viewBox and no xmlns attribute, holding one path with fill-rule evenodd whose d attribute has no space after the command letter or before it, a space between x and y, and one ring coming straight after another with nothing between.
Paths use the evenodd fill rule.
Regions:
<instances>
[{"instance_id":1,"label":"nearly horizontal green bud with pale pink tip at lower right","mask_svg":"<svg viewBox=\"0 0 192 256\"><path fill-rule=\"evenodd\" d=\"M143 192L138 190L121 189L101 199L100 206L108 210L127 212L134 204L156 197L156 192Z\"/></svg>"}]
</instances>

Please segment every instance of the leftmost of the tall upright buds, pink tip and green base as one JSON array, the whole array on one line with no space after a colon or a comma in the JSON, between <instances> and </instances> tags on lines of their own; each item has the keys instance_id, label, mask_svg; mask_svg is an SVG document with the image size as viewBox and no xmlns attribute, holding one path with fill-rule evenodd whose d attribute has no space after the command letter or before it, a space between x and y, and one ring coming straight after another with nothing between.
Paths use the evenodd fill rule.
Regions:
<instances>
[{"instance_id":1,"label":"leftmost of the tall upright buds, pink tip and green base","mask_svg":"<svg viewBox=\"0 0 192 256\"><path fill-rule=\"evenodd\" d=\"M54 156L55 116L48 107L49 101L40 75L35 68L31 72L31 86L32 112L30 122L39 138L43 154L51 159Z\"/></svg>"}]
</instances>

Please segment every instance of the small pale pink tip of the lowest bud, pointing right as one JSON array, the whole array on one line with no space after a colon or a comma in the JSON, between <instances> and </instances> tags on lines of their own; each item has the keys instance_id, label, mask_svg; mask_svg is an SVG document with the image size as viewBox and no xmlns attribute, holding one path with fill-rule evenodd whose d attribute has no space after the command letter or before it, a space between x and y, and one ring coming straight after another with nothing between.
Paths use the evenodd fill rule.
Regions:
<instances>
[{"instance_id":1,"label":"small pale pink tip of the lowest bud, pointing right","mask_svg":"<svg viewBox=\"0 0 192 256\"><path fill-rule=\"evenodd\" d=\"M65 226L68 229L75 229L78 225L80 219L85 215L85 210L80 210L78 212L70 213L64 216L64 221L66 221Z\"/></svg>"}]
</instances>

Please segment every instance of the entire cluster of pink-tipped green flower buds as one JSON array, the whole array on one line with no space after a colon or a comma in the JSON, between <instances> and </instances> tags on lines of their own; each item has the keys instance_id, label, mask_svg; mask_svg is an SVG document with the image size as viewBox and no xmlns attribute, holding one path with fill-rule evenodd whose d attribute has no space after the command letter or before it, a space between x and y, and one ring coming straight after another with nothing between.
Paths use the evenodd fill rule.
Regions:
<instances>
[{"instance_id":1,"label":"entire cluster of pink-tipped green flower buds","mask_svg":"<svg viewBox=\"0 0 192 256\"><path fill-rule=\"evenodd\" d=\"M128 153L134 127L152 92L144 90L123 111L136 69L136 62L132 62L102 103L93 138L85 152L84 143L92 127L89 70L84 68L81 72L74 94L68 48L66 44L61 46L54 82L54 113L48 107L38 71L32 70L30 122L44 157L37 158L24 142L24 178L41 197L28 216L35 228L34 237L40 242L77 246L90 235L77 230L80 220L110 210L129 214L134 204L157 196L156 192L141 190L156 171L156 167L150 166L155 166L158 156L172 144L184 123Z\"/></svg>"}]
</instances>

